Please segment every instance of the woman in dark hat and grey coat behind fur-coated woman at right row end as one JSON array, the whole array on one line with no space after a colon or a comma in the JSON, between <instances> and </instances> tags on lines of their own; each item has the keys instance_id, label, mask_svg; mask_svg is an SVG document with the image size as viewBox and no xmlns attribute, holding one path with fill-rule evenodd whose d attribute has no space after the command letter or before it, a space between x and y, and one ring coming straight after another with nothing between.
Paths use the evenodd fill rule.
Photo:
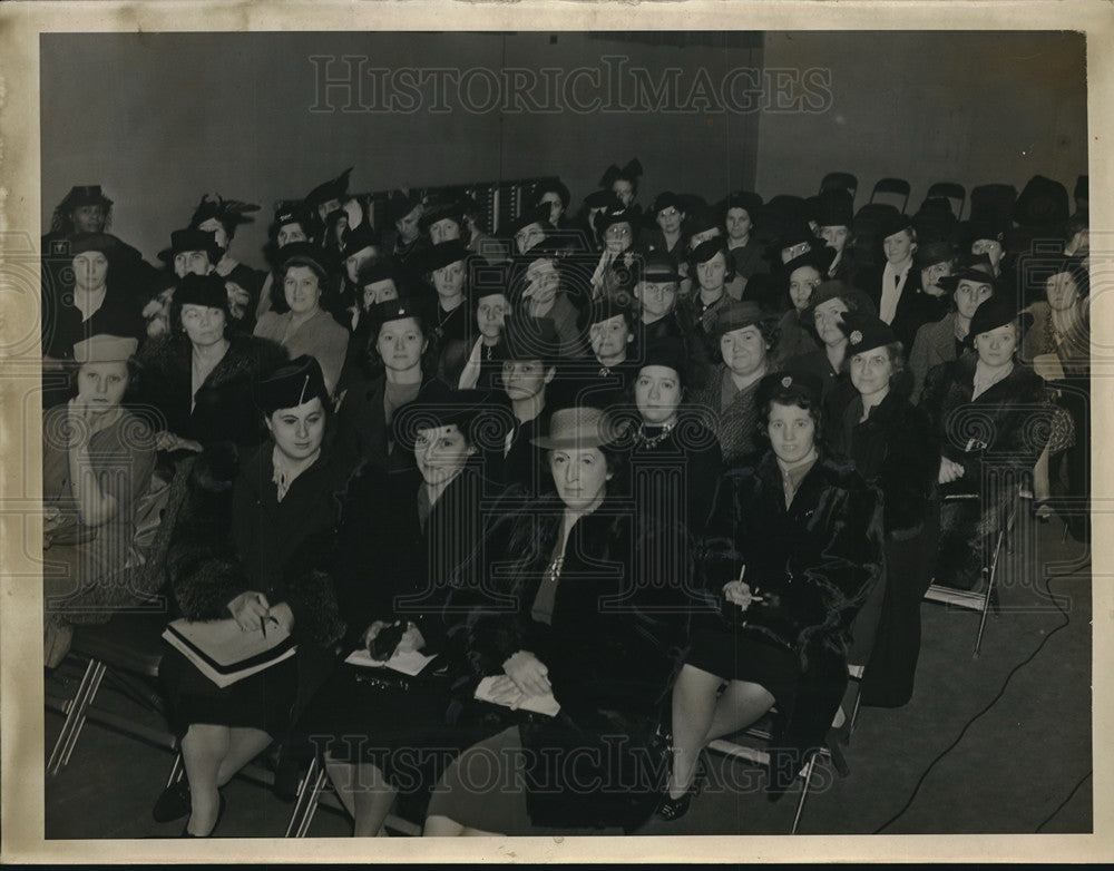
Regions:
<instances>
[{"instance_id":1,"label":"woman in dark hat and grey coat behind fur-coated woman at right row end","mask_svg":"<svg viewBox=\"0 0 1114 871\"><path fill-rule=\"evenodd\" d=\"M912 373L912 402L920 401L928 373L940 365L957 360L970 351L967 333L971 317L984 300L995 291L994 267L985 256L969 258L958 272L938 280L950 294L952 311L936 323L925 324L917 331L917 339L909 354L909 371Z\"/></svg>"}]
</instances>

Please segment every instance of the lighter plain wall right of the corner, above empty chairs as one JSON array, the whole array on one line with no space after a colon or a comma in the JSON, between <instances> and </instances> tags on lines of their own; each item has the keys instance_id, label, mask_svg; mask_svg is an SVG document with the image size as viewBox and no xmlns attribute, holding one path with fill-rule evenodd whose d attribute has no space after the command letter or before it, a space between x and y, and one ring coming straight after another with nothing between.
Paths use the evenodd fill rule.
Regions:
<instances>
[{"instance_id":1,"label":"lighter plain wall right of the corner, above empty chairs","mask_svg":"<svg viewBox=\"0 0 1114 871\"><path fill-rule=\"evenodd\" d=\"M770 112L759 134L758 189L809 196L829 172L859 178L856 206L874 183L1004 183L1034 175L1071 196L1087 173L1085 40L1081 33L768 32L768 74L830 72L820 112Z\"/></svg>"}]
</instances>

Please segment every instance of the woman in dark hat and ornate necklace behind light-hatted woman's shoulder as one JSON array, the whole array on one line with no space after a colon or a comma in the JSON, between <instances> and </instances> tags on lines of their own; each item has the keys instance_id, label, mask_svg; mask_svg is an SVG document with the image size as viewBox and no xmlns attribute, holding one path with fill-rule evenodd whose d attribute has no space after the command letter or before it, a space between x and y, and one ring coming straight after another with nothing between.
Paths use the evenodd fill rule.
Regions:
<instances>
[{"instance_id":1,"label":"woman in dark hat and ornate necklace behind light-hatted woman's shoulder","mask_svg":"<svg viewBox=\"0 0 1114 871\"><path fill-rule=\"evenodd\" d=\"M631 454L633 476L664 488L659 505L676 506L677 521L693 536L704 530L723 452L701 409L685 403L692 389L692 364L680 339L659 339L639 360L634 404L641 422ZM677 492L684 493L678 500Z\"/></svg>"}]
</instances>

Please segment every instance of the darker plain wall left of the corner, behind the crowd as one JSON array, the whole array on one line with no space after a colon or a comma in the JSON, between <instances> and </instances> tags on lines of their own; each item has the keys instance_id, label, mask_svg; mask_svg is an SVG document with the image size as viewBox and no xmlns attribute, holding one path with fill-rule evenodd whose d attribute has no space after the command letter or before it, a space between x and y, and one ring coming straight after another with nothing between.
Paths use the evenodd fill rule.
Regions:
<instances>
[{"instance_id":1,"label":"darker plain wall left of the corner, behind the crowd","mask_svg":"<svg viewBox=\"0 0 1114 871\"><path fill-rule=\"evenodd\" d=\"M233 249L262 265L275 202L301 198L349 166L353 193L556 174L575 209L609 164L638 157L644 205L666 188L719 198L753 184L758 111L477 112L458 105L438 112L426 104L413 112L342 111L345 92L319 92L317 70L345 78L350 68L311 61L352 55L392 69L557 68L567 76L578 67L606 74L604 56L626 56L654 81L668 68L685 70L683 88L696 68L717 81L725 70L761 66L760 35L720 46L715 37L682 41L570 32L43 36L43 229L71 185L99 183L116 203L113 232L154 262L201 195L219 193L264 207ZM482 104L483 80L475 85ZM377 99L382 105L371 89L355 97L364 106Z\"/></svg>"}]
</instances>

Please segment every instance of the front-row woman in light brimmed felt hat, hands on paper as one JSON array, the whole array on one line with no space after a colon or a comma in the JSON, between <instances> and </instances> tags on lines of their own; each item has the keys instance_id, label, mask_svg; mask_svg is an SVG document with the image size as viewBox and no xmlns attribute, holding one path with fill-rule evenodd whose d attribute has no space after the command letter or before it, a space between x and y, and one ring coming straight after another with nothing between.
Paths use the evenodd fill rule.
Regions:
<instances>
[{"instance_id":1,"label":"front-row woman in light brimmed felt hat, hands on paper","mask_svg":"<svg viewBox=\"0 0 1114 871\"><path fill-rule=\"evenodd\" d=\"M631 831L653 813L653 738L687 635L688 571L681 527L624 506L620 434L596 409L555 412L536 443L557 493L485 539L478 576L506 604L469 617L473 677L496 676L502 704L551 693L560 711L465 751L430 800L428 835ZM477 762L495 767L482 793Z\"/></svg>"}]
</instances>

